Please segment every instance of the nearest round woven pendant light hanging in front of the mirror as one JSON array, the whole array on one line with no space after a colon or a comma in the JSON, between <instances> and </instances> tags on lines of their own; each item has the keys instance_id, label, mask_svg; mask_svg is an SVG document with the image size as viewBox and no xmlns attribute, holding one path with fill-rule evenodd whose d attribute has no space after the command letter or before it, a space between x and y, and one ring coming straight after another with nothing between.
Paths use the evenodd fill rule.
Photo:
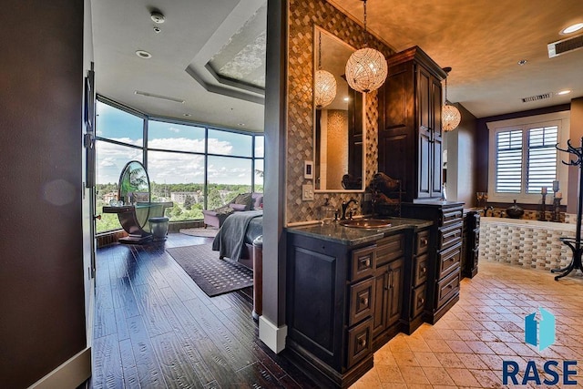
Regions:
<instances>
[{"instance_id":1,"label":"nearest round woven pendant light hanging in front of the mirror","mask_svg":"<svg viewBox=\"0 0 583 389\"><path fill-rule=\"evenodd\" d=\"M368 46L366 32L366 0L364 4L364 48L356 50L346 63L346 81L358 92L368 93L384 83L387 74L386 59L383 53Z\"/></svg>"}]
</instances>

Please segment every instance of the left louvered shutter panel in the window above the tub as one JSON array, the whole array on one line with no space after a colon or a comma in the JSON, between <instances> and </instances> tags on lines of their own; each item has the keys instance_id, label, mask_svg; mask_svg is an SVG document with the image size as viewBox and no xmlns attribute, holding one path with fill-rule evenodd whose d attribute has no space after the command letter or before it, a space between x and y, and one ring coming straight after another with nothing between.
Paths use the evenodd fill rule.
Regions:
<instances>
[{"instance_id":1,"label":"left louvered shutter panel in the window above the tub","mask_svg":"<svg viewBox=\"0 0 583 389\"><path fill-rule=\"evenodd\" d=\"M521 129L496 133L496 192L520 193L522 148Z\"/></svg>"}]
</instances>

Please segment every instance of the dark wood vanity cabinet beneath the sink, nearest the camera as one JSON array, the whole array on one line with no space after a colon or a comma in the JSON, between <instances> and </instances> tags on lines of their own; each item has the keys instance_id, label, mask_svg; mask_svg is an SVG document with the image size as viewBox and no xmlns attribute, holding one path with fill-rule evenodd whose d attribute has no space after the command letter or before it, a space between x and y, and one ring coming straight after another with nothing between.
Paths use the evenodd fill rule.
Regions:
<instances>
[{"instance_id":1,"label":"dark wood vanity cabinet beneath the sink, nearest the camera","mask_svg":"<svg viewBox=\"0 0 583 389\"><path fill-rule=\"evenodd\" d=\"M287 350L331 386L373 367L373 351L402 320L404 231L350 246L288 233ZM389 338L390 339L390 338Z\"/></svg>"}]
</instances>

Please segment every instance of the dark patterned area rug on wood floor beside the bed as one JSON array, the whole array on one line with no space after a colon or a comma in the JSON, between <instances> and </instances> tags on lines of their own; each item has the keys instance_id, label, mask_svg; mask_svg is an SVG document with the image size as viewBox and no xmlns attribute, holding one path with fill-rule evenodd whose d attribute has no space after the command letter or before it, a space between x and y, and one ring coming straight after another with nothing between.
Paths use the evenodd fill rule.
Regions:
<instances>
[{"instance_id":1,"label":"dark patterned area rug on wood floor beside the bed","mask_svg":"<svg viewBox=\"0 0 583 389\"><path fill-rule=\"evenodd\" d=\"M211 244L166 249L175 261L210 297L253 285L253 271L237 261L220 260Z\"/></svg>"}]
</instances>

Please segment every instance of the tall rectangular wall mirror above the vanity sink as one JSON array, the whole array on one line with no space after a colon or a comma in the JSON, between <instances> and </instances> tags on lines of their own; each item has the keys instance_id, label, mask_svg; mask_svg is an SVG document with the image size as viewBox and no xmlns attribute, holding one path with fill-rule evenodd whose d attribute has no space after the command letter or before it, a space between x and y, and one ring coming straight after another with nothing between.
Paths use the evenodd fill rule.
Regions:
<instances>
[{"instance_id":1,"label":"tall rectangular wall mirror above the vanity sink","mask_svg":"<svg viewBox=\"0 0 583 389\"><path fill-rule=\"evenodd\" d=\"M348 87L346 61L354 48L314 26L314 82L319 68L336 79L336 96L325 107L313 105L314 189L316 191L364 190L364 95ZM315 87L314 87L315 90Z\"/></svg>"}]
</instances>

